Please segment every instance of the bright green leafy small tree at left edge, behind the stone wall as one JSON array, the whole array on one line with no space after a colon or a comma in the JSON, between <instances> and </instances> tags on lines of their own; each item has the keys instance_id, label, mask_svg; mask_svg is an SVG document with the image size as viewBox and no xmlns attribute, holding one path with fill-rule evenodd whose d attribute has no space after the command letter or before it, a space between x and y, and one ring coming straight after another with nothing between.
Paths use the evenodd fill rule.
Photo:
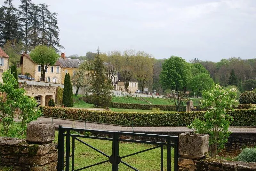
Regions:
<instances>
[{"instance_id":1,"label":"bright green leafy small tree at left edge, behind the stone wall","mask_svg":"<svg viewBox=\"0 0 256 171\"><path fill-rule=\"evenodd\" d=\"M12 124L15 117L14 111L20 108L22 118L18 129L20 135L26 130L26 124L34 121L41 115L41 112L34 109L36 107L36 100L29 98L25 95L25 90L23 88L16 88L17 81L11 74L11 70L3 72L3 83L0 83L0 118L2 118L3 129L1 132L4 136L9 136L9 130L13 130L17 133L17 129L13 129ZM16 135L12 133L11 135Z\"/></svg>"}]
</instances>

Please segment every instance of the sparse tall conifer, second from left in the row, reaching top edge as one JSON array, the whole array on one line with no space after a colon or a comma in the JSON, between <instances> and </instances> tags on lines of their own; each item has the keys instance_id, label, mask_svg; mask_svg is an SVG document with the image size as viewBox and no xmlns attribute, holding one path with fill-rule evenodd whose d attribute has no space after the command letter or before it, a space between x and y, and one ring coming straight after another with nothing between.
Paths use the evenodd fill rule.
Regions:
<instances>
[{"instance_id":1,"label":"sparse tall conifer, second from left in the row, reaching top edge","mask_svg":"<svg viewBox=\"0 0 256 171\"><path fill-rule=\"evenodd\" d=\"M25 42L25 53L28 51L28 31L32 25L33 11L31 0L20 0L19 6L20 25L22 26L23 41Z\"/></svg>"}]
</instances>

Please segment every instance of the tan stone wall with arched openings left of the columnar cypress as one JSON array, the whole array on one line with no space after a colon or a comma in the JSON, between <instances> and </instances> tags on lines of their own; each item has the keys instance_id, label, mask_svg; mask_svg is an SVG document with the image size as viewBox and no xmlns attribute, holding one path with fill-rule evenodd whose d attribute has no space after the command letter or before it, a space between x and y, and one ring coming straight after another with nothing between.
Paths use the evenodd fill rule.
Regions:
<instances>
[{"instance_id":1,"label":"tan stone wall with arched openings left of the columnar cypress","mask_svg":"<svg viewBox=\"0 0 256 171\"><path fill-rule=\"evenodd\" d=\"M30 97L40 97L40 105L48 106L50 99L55 102L56 87L55 86L41 86L41 85L27 85L20 84L20 87L26 90L26 95Z\"/></svg>"}]
</instances>

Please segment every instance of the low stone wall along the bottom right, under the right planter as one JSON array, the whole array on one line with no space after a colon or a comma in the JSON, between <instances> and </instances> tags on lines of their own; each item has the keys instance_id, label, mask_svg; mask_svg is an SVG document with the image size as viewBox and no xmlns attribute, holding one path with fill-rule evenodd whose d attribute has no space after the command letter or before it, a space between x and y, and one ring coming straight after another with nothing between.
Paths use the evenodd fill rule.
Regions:
<instances>
[{"instance_id":1,"label":"low stone wall along the bottom right, under the right planter","mask_svg":"<svg viewBox=\"0 0 256 171\"><path fill-rule=\"evenodd\" d=\"M241 161L226 161L220 159L205 158L202 160L191 160L179 158L179 171L252 171L256 170L256 163L245 163Z\"/></svg>"}]
</instances>

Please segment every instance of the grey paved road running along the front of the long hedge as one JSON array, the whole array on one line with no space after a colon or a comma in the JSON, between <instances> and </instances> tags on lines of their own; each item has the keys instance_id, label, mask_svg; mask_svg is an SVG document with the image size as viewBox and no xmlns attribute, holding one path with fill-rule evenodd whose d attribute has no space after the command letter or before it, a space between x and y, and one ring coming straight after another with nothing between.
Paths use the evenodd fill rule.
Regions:
<instances>
[{"instance_id":1,"label":"grey paved road running along the front of the long hedge","mask_svg":"<svg viewBox=\"0 0 256 171\"><path fill-rule=\"evenodd\" d=\"M17 118L15 119L17 121ZM48 117L39 117L37 121L32 123L52 123L52 118ZM74 128L84 128L84 121L73 121L67 119L57 119L53 118L53 123L56 124L56 127L63 125L64 127L74 127ZM132 131L132 126L119 126L119 125L110 125L103 123L92 123L86 122L86 129L91 130L111 130L111 131ZM181 126L134 126L134 131L145 131L145 132L190 132L191 130L187 127ZM256 133L256 127L230 127L230 131L234 133Z\"/></svg>"}]
</instances>

